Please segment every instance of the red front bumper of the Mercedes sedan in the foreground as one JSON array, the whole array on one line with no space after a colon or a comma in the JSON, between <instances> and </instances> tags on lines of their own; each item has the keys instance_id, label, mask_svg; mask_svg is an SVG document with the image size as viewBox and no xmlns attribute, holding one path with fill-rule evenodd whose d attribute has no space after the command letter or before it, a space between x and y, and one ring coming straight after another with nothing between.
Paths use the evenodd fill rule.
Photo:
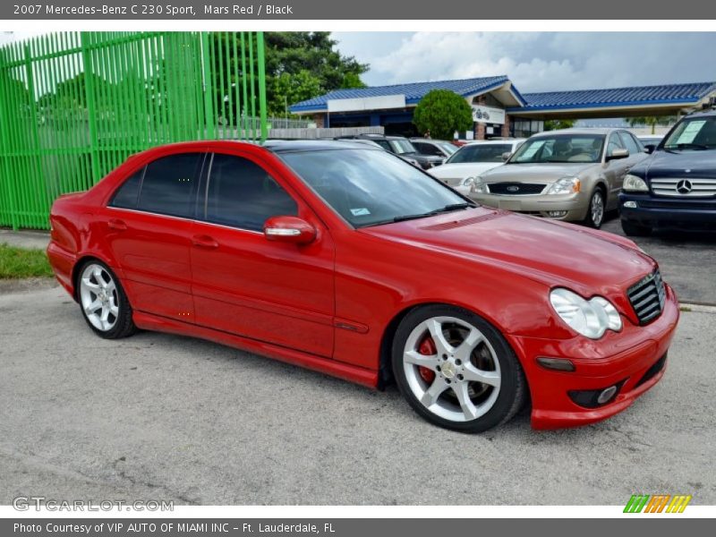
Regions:
<instances>
[{"instance_id":1,"label":"red front bumper of the Mercedes sedan in the foreground","mask_svg":"<svg viewBox=\"0 0 716 537\"><path fill-rule=\"evenodd\" d=\"M676 294L669 286L666 290L664 310L644 327L624 318L621 332L607 332L596 341L584 337L567 340L509 337L522 358L530 386L534 429L600 422L625 410L659 382L679 317ZM537 363L539 357L568 359L575 364L575 371L544 369ZM613 385L619 386L617 396L595 408L577 405L569 396L571 391L601 390Z\"/></svg>"}]
</instances>

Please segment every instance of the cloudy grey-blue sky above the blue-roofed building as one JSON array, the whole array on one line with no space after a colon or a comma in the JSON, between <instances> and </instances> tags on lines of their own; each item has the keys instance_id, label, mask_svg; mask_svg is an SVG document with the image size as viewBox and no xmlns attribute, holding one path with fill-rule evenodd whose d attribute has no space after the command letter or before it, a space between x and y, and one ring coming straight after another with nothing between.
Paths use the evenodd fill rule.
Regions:
<instances>
[{"instance_id":1,"label":"cloudy grey-blue sky above the blue-roofed building","mask_svg":"<svg viewBox=\"0 0 716 537\"><path fill-rule=\"evenodd\" d=\"M369 85L507 74L523 93L716 81L716 32L335 32Z\"/></svg>"}]
</instances>

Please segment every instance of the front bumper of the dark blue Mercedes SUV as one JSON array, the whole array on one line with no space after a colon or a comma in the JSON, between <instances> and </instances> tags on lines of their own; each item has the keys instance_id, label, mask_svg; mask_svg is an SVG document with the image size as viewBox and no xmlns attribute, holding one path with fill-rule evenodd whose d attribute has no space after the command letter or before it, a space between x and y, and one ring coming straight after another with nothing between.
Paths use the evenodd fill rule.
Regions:
<instances>
[{"instance_id":1,"label":"front bumper of the dark blue Mercedes SUV","mask_svg":"<svg viewBox=\"0 0 716 537\"><path fill-rule=\"evenodd\" d=\"M625 207L627 201L635 208ZM650 194L619 194L622 220L644 227L716 230L716 200L688 200L684 197L654 197Z\"/></svg>"}]
</instances>

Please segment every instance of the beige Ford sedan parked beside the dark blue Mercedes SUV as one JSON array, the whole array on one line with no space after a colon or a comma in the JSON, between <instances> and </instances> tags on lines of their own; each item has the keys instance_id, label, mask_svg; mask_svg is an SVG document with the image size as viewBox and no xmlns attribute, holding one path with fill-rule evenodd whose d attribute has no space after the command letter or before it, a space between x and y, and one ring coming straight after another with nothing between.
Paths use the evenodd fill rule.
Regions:
<instances>
[{"instance_id":1,"label":"beige Ford sedan parked beside the dark blue Mercedes SUV","mask_svg":"<svg viewBox=\"0 0 716 537\"><path fill-rule=\"evenodd\" d=\"M631 132L564 129L541 132L477 177L470 197L483 205L600 227L618 208L627 170L646 158Z\"/></svg>"}]
</instances>

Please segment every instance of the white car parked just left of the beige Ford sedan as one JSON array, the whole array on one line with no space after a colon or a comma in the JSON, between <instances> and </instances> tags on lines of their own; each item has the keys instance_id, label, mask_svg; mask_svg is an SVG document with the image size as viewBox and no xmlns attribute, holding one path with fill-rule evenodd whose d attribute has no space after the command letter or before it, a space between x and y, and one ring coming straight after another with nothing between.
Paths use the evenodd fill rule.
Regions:
<instances>
[{"instance_id":1,"label":"white car parked just left of the beige Ford sedan","mask_svg":"<svg viewBox=\"0 0 716 537\"><path fill-rule=\"evenodd\" d=\"M456 191L469 195L475 177L493 167L502 166L506 155L512 154L524 143L524 139L509 141L473 141L457 149L443 166L430 170L430 175L452 186Z\"/></svg>"}]
</instances>

